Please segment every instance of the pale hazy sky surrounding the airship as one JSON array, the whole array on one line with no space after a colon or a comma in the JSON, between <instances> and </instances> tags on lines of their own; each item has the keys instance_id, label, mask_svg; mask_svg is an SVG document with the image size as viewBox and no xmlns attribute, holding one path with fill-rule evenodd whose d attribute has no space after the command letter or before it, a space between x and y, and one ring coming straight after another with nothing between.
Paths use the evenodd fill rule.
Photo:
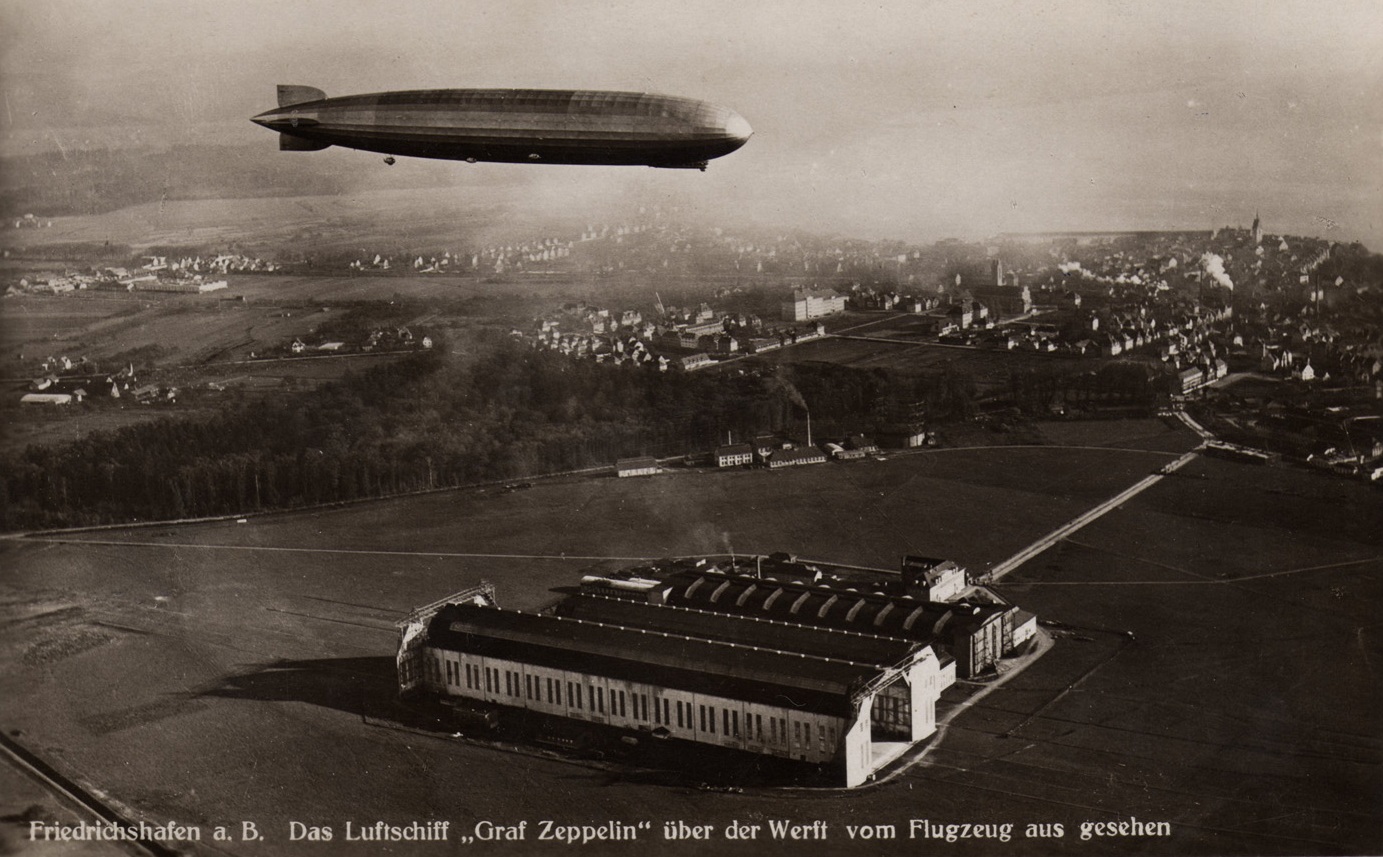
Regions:
<instances>
[{"instance_id":1,"label":"pale hazy sky surrounding the airship","mask_svg":"<svg viewBox=\"0 0 1383 857\"><path fill-rule=\"evenodd\" d=\"M274 84L649 90L754 126L705 174L451 167L864 238L1209 228L1383 249L1383 3L0 0L0 148L263 144ZM393 167L420 169L404 160Z\"/></svg>"}]
</instances>

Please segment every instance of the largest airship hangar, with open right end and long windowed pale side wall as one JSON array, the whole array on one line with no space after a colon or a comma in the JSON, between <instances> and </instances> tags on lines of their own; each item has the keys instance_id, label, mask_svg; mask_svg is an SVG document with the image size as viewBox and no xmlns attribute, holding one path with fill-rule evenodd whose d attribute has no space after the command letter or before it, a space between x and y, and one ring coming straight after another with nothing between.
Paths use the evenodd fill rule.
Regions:
<instances>
[{"instance_id":1,"label":"largest airship hangar, with open right end and long windowed pale side wall","mask_svg":"<svg viewBox=\"0 0 1383 857\"><path fill-rule=\"evenodd\" d=\"M928 643L650 603L643 583L661 586L548 612L488 586L422 607L400 623L400 691L813 763L846 787L935 731L954 668Z\"/></svg>"}]
</instances>

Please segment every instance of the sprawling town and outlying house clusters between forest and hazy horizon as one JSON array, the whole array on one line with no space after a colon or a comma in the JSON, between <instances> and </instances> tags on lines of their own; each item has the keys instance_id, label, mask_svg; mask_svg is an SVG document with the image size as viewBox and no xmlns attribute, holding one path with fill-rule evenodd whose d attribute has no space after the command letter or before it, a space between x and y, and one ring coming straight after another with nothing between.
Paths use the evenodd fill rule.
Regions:
<instances>
[{"instance_id":1,"label":"sprawling town and outlying house clusters between forest and hazy horizon","mask_svg":"<svg viewBox=\"0 0 1383 857\"><path fill-rule=\"evenodd\" d=\"M577 300L527 322L516 317L513 339L570 359L660 373L763 375L824 362L925 375L943 365L972 376L971 419L1163 409L1187 413L1207 438L1256 455L1366 480L1377 478L1383 462L1376 258L1358 245L1270 235L1257 216L1247 227L1203 232L1005 235L910 247L693 228L646 209L636 223L588 225L579 235L409 253L412 264L366 254L373 261L319 258L308 268L227 253L145 256L137 265L21 275L7 296L80 300L84 290L122 289L149 300L183 294L224 303L230 296L234 303L246 297L228 289L227 278L264 278L252 300L297 305L307 317L326 307L275 301L274 283L304 271L373 270L402 282L480 278L481 289L502 292L553 276L599 276L625 303ZM344 325L314 321L242 357L402 354L433 344L407 319L355 317ZM236 383L130 361L102 375L93 369L97 362L26 358L30 380L18 398L98 406L105 394L126 394L174 402L180 391ZM152 383L136 383L137 373ZM801 411L809 415L810 402ZM895 402L892 411L822 435L828 444L822 460L870 448L867 434L891 446L921 445L925 423L947 419L921 402ZM795 435L780 437L780 449L813 448L809 420ZM779 460L817 460L815 452L791 452ZM682 453L718 455L714 448Z\"/></svg>"}]
</instances>

